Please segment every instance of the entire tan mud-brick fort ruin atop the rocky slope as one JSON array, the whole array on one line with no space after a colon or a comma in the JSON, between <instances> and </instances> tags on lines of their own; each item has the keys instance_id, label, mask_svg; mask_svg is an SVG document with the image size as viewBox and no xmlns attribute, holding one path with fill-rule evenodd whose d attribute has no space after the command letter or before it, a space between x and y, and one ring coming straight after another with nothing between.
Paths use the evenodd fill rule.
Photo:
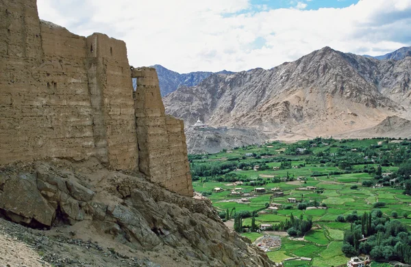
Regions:
<instances>
[{"instance_id":1,"label":"entire tan mud-brick fort ruin atop the rocky slope","mask_svg":"<svg viewBox=\"0 0 411 267\"><path fill-rule=\"evenodd\" d=\"M40 20L36 0L0 0L0 14L0 165L94 156L192 195L184 125L153 68L131 68L123 41Z\"/></svg>"}]
</instances>

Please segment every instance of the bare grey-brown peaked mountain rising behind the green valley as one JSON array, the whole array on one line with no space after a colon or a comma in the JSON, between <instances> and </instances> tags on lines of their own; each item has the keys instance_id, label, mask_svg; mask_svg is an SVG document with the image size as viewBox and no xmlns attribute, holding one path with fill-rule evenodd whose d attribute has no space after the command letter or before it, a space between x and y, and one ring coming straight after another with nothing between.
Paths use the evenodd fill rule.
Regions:
<instances>
[{"instance_id":1,"label":"bare grey-brown peaked mountain rising behind the green valley","mask_svg":"<svg viewBox=\"0 0 411 267\"><path fill-rule=\"evenodd\" d=\"M166 113L186 125L200 118L272 138L336 135L404 113L411 101L410 63L411 57L379 61L325 47L271 70L212 74L163 101Z\"/></svg>"}]
</instances>

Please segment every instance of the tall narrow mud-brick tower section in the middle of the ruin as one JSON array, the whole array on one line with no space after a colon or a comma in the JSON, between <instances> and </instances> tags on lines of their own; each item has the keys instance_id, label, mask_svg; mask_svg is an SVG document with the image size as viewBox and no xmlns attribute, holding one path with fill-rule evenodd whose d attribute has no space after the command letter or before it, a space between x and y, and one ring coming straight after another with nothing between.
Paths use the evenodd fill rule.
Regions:
<instances>
[{"instance_id":1,"label":"tall narrow mud-brick tower section in the middle of the ruin","mask_svg":"<svg viewBox=\"0 0 411 267\"><path fill-rule=\"evenodd\" d=\"M106 147L112 167L134 169L138 166L136 119L125 42L94 33L87 38L86 51L96 147Z\"/></svg>"}]
</instances>

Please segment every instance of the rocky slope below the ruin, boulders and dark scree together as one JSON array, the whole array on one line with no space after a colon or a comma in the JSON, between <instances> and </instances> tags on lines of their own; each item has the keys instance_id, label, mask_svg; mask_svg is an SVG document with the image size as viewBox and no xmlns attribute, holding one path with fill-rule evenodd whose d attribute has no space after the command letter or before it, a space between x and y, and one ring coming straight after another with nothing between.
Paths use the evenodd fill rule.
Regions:
<instances>
[{"instance_id":1,"label":"rocky slope below the ruin, boulders and dark scree together","mask_svg":"<svg viewBox=\"0 0 411 267\"><path fill-rule=\"evenodd\" d=\"M108 171L98 160L10 165L0 172L0 188L1 216L42 229L0 220L0 244L21 236L29 255L39 251L54 266L273 264L225 227L210 201Z\"/></svg>"}]
</instances>

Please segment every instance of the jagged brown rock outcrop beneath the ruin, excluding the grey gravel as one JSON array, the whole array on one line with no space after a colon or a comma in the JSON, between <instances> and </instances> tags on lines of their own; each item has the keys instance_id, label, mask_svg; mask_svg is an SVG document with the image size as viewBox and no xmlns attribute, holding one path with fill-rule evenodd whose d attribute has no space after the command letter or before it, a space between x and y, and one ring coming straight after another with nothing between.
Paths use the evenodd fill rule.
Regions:
<instances>
[{"instance_id":1,"label":"jagged brown rock outcrop beneath the ruin, excluding the grey gravel","mask_svg":"<svg viewBox=\"0 0 411 267\"><path fill-rule=\"evenodd\" d=\"M82 223L85 231L103 232L138 251L175 251L182 266L272 264L225 227L210 201L107 171L97 160L14 165L0 179L0 211L18 223L41 228Z\"/></svg>"}]
</instances>

